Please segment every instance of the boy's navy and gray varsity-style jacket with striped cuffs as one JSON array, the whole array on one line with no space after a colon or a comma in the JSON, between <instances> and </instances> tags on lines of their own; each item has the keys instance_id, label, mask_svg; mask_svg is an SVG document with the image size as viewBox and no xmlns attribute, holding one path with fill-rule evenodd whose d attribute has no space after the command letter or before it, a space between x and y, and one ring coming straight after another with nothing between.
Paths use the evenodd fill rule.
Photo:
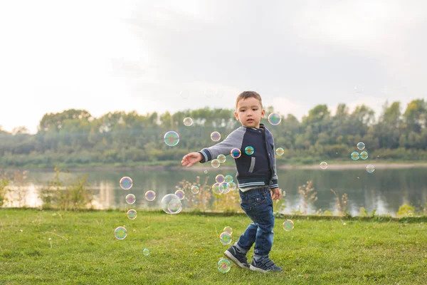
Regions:
<instances>
[{"instance_id":1,"label":"boy's navy and gray varsity-style jacket with striped cuffs","mask_svg":"<svg viewBox=\"0 0 427 285\"><path fill-rule=\"evenodd\" d=\"M253 147L252 155L247 155L245 152L248 146ZM241 126L233 130L222 142L199 151L202 155L200 162L214 160L218 155L230 155L233 148L241 150L241 157L234 160L239 188L279 187L273 135L263 124L260 124L259 129Z\"/></svg>"}]
</instances>

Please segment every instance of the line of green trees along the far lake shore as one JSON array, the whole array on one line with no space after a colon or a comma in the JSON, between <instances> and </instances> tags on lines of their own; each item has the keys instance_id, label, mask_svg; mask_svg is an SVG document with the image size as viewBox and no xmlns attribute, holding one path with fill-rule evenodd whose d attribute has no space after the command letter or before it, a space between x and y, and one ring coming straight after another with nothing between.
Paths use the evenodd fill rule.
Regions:
<instances>
[{"instance_id":1,"label":"line of green trees along the far lake shore","mask_svg":"<svg viewBox=\"0 0 427 285\"><path fill-rule=\"evenodd\" d=\"M298 120L283 115L279 125L267 120L273 107L266 108L265 123L273 133L275 147L285 154L278 163L315 163L319 160L348 160L357 142L367 145L369 156L385 160L427 159L427 102L412 100L404 111L399 101L384 103L376 117L367 105L352 112L339 104L332 115L327 105L316 105ZM36 134L25 127L11 133L0 128L0 165L23 167L43 165L143 165L171 162L176 165L189 150L214 145L210 135L221 133L221 140L238 128L232 109L201 108L176 113L115 111L95 118L87 110L46 113ZM184 118L193 119L185 126ZM179 133L179 143L164 143L169 130Z\"/></svg>"}]
</instances>

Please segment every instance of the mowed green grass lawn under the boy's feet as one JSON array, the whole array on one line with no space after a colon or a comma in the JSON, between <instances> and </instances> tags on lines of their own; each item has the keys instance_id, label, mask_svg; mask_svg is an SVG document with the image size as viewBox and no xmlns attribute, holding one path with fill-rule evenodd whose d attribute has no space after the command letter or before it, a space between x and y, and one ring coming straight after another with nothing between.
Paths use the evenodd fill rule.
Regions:
<instances>
[{"instance_id":1,"label":"mowed green grass lawn under the boy's feet","mask_svg":"<svg viewBox=\"0 0 427 285\"><path fill-rule=\"evenodd\" d=\"M282 274L223 274L218 236L231 226L236 241L245 215L0 209L0 284L427 284L426 217L293 217L291 232L285 219L270 252Z\"/></svg>"}]
</instances>

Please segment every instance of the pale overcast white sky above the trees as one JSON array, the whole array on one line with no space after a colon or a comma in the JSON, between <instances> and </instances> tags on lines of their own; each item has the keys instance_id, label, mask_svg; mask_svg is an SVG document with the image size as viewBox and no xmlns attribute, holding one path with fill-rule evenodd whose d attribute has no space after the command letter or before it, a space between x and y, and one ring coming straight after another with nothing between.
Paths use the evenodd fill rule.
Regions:
<instances>
[{"instance_id":1,"label":"pale overcast white sky above the trees","mask_svg":"<svg viewBox=\"0 0 427 285\"><path fill-rule=\"evenodd\" d=\"M262 4L261 4L262 3ZM427 1L1 1L0 125L45 113L233 108L297 118L427 98Z\"/></svg>"}]
</instances>

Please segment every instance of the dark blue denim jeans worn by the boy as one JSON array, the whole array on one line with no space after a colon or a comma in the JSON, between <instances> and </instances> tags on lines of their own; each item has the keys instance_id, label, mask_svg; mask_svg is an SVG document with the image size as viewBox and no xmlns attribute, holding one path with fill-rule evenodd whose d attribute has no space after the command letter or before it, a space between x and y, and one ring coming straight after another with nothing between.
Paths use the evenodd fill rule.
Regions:
<instances>
[{"instance_id":1,"label":"dark blue denim jeans worn by the boy","mask_svg":"<svg viewBox=\"0 0 427 285\"><path fill-rule=\"evenodd\" d=\"M255 255L268 256L273 246L273 199L268 187L241 192L241 208L253 221L238 239L238 246L246 252L255 242Z\"/></svg>"}]
</instances>

